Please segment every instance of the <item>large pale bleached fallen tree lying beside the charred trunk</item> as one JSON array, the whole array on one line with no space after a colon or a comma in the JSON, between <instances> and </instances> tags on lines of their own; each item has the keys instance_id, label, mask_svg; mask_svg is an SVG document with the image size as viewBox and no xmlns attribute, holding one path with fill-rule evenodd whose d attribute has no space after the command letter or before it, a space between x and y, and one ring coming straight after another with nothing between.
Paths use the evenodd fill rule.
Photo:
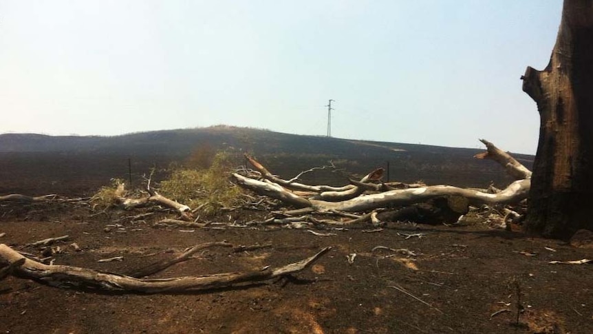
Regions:
<instances>
[{"instance_id":1,"label":"large pale bleached fallen tree lying beside the charred trunk","mask_svg":"<svg viewBox=\"0 0 593 334\"><path fill-rule=\"evenodd\" d=\"M481 141L486 145L486 152L477 154L475 158L495 160L517 179L505 189L488 192L486 189L466 189L450 185L402 187L400 182L396 182L397 187L404 189L396 189L389 183L373 183L380 181L379 170L372 171L359 181L352 180L350 185L344 187L303 185L274 176L251 156L246 157L257 173L235 173L233 178L241 187L255 191L259 195L281 200L297 209L312 209L317 212L363 212L390 206L405 207L443 197L464 198L467 205L516 204L526 199L531 185L531 171L488 140ZM352 196L353 194L356 195Z\"/></svg>"}]
</instances>

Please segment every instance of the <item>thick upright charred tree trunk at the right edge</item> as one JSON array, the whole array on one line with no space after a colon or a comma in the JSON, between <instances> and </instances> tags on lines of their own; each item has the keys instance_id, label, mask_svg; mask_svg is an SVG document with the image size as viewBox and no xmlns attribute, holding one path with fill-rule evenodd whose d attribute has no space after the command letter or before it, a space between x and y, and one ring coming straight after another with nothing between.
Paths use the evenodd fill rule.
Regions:
<instances>
[{"instance_id":1,"label":"thick upright charred tree trunk at the right edge","mask_svg":"<svg viewBox=\"0 0 593 334\"><path fill-rule=\"evenodd\" d=\"M564 1L550 63L521 79L541 119L526 226L567 239L593 229L593 1Z\"/></svg>"}]
</instances>

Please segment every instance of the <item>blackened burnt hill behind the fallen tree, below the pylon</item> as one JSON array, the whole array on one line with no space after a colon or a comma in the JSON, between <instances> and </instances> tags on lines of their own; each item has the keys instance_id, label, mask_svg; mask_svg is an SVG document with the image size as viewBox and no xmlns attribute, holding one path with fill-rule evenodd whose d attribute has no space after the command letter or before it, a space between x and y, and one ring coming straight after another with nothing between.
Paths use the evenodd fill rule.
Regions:
<instances>
[{"instance_id":1,"label":"blackened burnt hill behind the fallen tree, below the pylon","mask_svg":"<svg viewBox=\"0 0 593 334\"><path fill-rule=\"evenodd\" d=\"M402 182L485 187L489 182L501 185L510 181L496 163L473 158L482 152L480 149L301 136L219 125L122 136L0 134L0 193L56 192L53 189L61 189L61 185L69 191L87 193L107 184L109 178L128 178L129 162L140 182L151 167L162 169L172 162L183 163L204 147L230 149L237 156L248 152L286 178L332 161L354 174L387 168L389 163L389 179ZM514 156L531 166L532 156ZM241 163L238 158L237 165ZM330 172L315 174L307 181L345 182Z\"/></svg>"}]
</instances>

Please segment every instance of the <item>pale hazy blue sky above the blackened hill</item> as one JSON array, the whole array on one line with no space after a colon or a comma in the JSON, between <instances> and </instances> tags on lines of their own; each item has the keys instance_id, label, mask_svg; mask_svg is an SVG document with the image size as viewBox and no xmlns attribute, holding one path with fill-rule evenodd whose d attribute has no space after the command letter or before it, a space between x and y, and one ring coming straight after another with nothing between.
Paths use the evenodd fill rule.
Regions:
<instances>
[{"instance_id":1,"label":"pale hazy blue sky above the blackened hill","mask_svg":"<svg viewBox=\"0 0 593 334\"><path fill-rule=\"evenodd\" d=\"M0 133L235 125L535 154L560 0L0 0Z\"/></svg>"}]
</instances>

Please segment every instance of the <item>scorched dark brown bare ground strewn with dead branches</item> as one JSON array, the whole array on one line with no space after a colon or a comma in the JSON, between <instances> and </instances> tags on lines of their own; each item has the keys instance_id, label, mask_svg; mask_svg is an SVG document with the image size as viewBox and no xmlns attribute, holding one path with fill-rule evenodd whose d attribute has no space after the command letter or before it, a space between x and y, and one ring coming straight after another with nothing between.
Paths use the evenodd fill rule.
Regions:
<instances>
[{"instance_id":1,"label":"scorched dark brown bare ground strewn with dead branches","mask_svg":"<svg viewBox=\"0 0 593 334\"><path fill-rule=\"evenodd\" d=\"M11 192L19 191L18 182L12 183ZM51 186L42 183L32 195L52 193ZM84 192L82 183L76 187L67 194ZM0 233L5 234L0 243L42 257L43 247L26 244L68 235L67 242L52 245L61 248L54 264L115 273L203 242L272 244L244 252L205 249L154 278L258 270L333 248L290 278L213 291L105 293L9 277L0 281L1 333L593 333L593 267L548 263L593 258L593 249L528 237L518 227L494 229L478 216L460 226L389 222L376 233L367 231L370 226L352 226L319 231L334 236L315 236L263 226L163 229L120 220L138 211L94 213L60 203L2 204ZM268 213L230 215L218 221L263 220ZM106 231L115 220L121 226ZM405 233L423 236L407 238ZM82 250L75 251L72 242ZM372 251L376 246L416 255ZM357 255L349 264L351 253ZM114 256L123 260L97 262Z\"/></svg>"}]
</instances>

